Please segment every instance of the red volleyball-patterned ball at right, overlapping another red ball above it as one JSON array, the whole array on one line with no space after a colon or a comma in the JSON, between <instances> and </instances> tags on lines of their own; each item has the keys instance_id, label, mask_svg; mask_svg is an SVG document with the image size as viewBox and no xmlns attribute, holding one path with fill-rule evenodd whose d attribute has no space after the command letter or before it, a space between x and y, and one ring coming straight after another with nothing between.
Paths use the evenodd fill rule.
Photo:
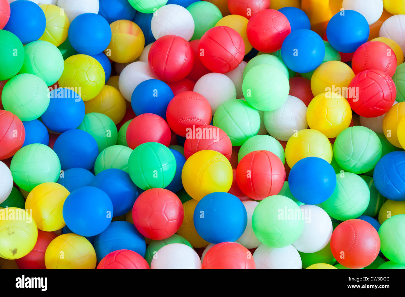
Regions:
<instances>
[{"instance_id":1,"label":"red volleyball-patterned ball at right, overlapping another red ball above it","mask_svg":"<svg viewBox=\"0 0 405 297\"><path fill-rule=\"evenodd\" d=\"M358 115L375 118L390 110L395 97L395 84L388 74L379 70L365 70L350 82L347 101Z\"/></svg>"}]
</instances>

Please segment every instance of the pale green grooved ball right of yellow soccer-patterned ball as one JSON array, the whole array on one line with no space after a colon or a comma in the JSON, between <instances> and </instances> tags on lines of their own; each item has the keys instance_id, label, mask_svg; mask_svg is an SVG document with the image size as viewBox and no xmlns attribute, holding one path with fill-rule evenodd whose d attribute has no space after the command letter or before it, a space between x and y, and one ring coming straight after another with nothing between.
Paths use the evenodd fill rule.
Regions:
<instances>
[{"instance_id":1,"label":"pale green grooved ball right of yellow soccer-patterned ball","mask_svg":"<svg viewBox=\"0 0 405 297\"><path fill-rule=\"evenodd\" d=\"M375 167L382 156L382 145L375 132L363 126L343 130L333 145L335 160L343 170L365 173Z\"/></svg>"}]
</instances>

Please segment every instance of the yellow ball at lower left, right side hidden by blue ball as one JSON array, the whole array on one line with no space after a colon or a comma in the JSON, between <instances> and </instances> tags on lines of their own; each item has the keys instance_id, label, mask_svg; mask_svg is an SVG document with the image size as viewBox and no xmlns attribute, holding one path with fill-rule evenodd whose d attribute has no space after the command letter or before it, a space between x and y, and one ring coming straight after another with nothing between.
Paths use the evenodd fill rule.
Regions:
<instances>
[{"instance_id":1,"label":"yellow ball at lower left, right side hidden by blue ball","mask_svg":"<svg viewBox=\"0 0 405 297\"><path fill-rule=\"evenodd\" d=\"M64 186L54 182L43 183L32 189L26 200L26 209L32 209L38 229L56 231L66 225L62 209L69 194Z\"/></svg>"}]
</instances>

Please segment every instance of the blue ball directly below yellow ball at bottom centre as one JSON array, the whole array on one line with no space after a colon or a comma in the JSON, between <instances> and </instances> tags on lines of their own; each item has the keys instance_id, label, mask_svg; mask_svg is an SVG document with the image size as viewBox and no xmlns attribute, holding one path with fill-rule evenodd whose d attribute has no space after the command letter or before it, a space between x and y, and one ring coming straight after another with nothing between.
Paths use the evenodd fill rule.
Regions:
<instances>
[{"instance_id":1,"label":"blue ball directly below yellow ball at bottom centre","mask_svg":"<svg viewBox=\"0 0 405 297\"><path fill-rule=\"evenodd\" d=\"M246 229L247 212L238 197L214 192L201 199L194 209L194 226L206 241L217 244L236 241Z\"/></svg>"}]
</instances>

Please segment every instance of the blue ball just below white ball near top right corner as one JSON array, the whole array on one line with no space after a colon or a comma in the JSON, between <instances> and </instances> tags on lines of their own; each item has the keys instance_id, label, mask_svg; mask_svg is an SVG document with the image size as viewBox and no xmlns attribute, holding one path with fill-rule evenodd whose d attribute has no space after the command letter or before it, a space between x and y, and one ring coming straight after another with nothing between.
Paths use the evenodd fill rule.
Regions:
<instances>
[{"instance_id":1,"label":"blue ball just below white ball near top right corner","mask_svg":"<svg viewBox=\"0 0 405 297\"><path fill-rule=\"evenodd\" d=\"M357 11L344 10L335 14L326 27L330 45L342 53L353 53L369 39L367 19Z\"/></svg>"}]
</instances>

